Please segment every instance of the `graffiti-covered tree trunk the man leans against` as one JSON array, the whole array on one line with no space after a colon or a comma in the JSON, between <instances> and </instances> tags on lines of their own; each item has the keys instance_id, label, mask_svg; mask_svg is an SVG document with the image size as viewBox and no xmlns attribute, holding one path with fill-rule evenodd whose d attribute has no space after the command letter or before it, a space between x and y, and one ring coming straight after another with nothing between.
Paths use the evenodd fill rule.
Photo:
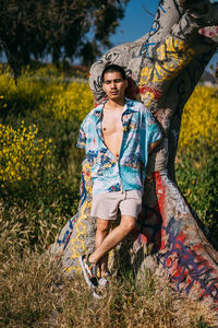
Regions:
<instances>
[{"instance_id":1,"label":"graffiti-covered tree trunk the man leans against","mask_svg":"<svg viewBox=\"0 0 218 328\"><path fill-rule=\"evenodd\" d=\"M122 66L129 77L129 97L145 104L165 136L148 161L143 211L129 237L131 265L136 273L152 266L165 272L178 291L214 304L218 302L218 255L178 188L174 159L184 104L217 48L216 25L218 7L208 0L160 0L150 32L109 50L93 65L89 79L98 104L105 99L102 69L108 63ZM80 272L80 255L94 249L96 223L89 216L90 204L90 171L84 159L78 212L52 245L52 251L62 254L69 274ZM153 250L146 256L148 244Z\"/></svg>"}]
</instances>

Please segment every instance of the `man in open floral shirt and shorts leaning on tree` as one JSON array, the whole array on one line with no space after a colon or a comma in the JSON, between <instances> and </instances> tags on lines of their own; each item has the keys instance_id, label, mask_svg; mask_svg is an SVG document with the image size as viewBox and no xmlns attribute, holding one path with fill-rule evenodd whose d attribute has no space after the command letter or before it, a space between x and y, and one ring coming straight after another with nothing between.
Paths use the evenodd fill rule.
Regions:
<instances>
[{"instance_id":1,"label":"man in open floral shirt and shorts leaning on tree","mask_svg":"<svg viewBox=\"0 0 218 328\"><path fill-rule=\"evenodd\" d=\"M77 142L77 147L85 149L90 164L90 215L97 218L96 250L80 259L85 280L92 288L107 282L108 253L135 227L142 209L148 153L161 141L159 127L145 106L125 98L125 71L109 65L102 71L101 81L108 101L86 116ZM121 221L110 232L118 209ZM97 265L101 271L99 281Z\"/></svg>"}]
</instances>

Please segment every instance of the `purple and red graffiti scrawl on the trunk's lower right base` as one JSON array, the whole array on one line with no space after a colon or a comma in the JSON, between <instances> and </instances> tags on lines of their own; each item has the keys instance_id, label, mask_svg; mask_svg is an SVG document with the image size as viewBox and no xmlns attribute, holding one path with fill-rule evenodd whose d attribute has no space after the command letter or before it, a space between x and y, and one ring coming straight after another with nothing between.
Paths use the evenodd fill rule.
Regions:
<instances>
[{"instance_id":1,"label":"purple and red graffiti scrawl on the trunk's lower right base","mask_svg":"<svg viewBox=\"0 0 218 328\"><path fill-rule=\"evenodd\" d=\"M180 221L177 222L174 218L171 218L168 226L162 226L168 236L168 242L162 249L167 251L160 255L162 266L170 273L170 279L178 291L185 291L189 294L191 289L198 284L201 300L210 296L218 302L218 279L210 274L215 270L203 256L195 251L201 245L196 245L195 249L184 245L186 237L183 232L180 229L174 230L181 223Z\"/></svg>"}]
</instances>

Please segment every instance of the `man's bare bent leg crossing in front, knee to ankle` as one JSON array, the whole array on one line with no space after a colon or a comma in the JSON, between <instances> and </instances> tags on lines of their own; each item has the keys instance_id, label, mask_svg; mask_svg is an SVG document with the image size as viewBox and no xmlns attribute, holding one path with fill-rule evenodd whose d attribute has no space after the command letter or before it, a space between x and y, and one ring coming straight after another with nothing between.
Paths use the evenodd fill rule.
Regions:
<instances>
[{"instance_id":1,"label":"man's bare bent leg crossing in front, knee to ankle","mask_svg":"<svg viewBox=\"0 0 218 328\"><path fill-rule=\"evenodd\" d=\"M136 218L122 215L120 225L114 227L97 247L97 249L89 256L89 261L93 263L99 260L114 248L131 231L134 230Z\"/></svg>"}]
</instances>

